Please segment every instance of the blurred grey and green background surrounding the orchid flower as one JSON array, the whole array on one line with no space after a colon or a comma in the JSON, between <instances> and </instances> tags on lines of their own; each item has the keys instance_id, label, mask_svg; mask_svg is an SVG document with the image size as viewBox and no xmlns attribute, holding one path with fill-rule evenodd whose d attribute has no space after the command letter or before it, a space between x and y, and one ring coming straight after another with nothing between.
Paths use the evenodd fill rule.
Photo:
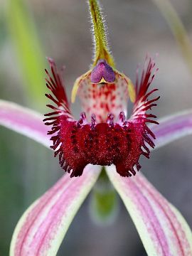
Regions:
<instances>
[{"instance_id":1,"label":"blurred grey and green background surrounding the orchid flower","mask_svg":"<svg viewBox=\"0 0 192 256\"><path fill-rule=\"evenodd\" d=\"M172 0L171 3L192 40L192 1ZM156 5L150 0L102 0L102 6L119 70L134 80L137 64L144 62L146 53L159 53L156 58L159 72L154 81L161 95L155 110L158 117L191 108L192 73ZM24 14L18 11L20 8ZM28 35L18 28L17 17L22 15L24 20L26 16L26 23L20 24L21 27L27 27L30 20ZM1 0L1 99L44 113L46 56L54 58L58 65L65 65L65 85L70 95L73 82L87 71L92 60L89 20L85 0ZM30 72L31 76L27 74ZM78 102L73 105L73 111L78 117ZM192 137L185 137L153 151L150 160L142 159L142 172L181 210L192 227L191 143ZM0 255L9 254L11 235L23 210L62 174L52 151L0 127ZM146 255L121 202L115 222L97 226L88 213L89 200L76 215L58 255Z\"/></svg>"}]
</instances>

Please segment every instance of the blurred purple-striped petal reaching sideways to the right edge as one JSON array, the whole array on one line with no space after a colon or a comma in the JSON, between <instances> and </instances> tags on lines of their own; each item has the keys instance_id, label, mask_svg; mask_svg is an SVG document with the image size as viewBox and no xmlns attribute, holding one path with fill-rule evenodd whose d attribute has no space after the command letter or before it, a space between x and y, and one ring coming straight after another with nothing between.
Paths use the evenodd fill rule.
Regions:
<instances>
[{"instance_id":1,"label":"blurred purple-striped petal reaching sideways to the right edge","mask_svg":"<svg viewBox=\"0 0 192 256\"><path fill-rule=\"evenodd\" d=\"M179 139L188 134L192 134L192 110L185 110L177 114L170 115L158 120L159 125L151 125L150 129L154 132L154 141L157 149L175 139Z\"/></svg>"}]
</instances>

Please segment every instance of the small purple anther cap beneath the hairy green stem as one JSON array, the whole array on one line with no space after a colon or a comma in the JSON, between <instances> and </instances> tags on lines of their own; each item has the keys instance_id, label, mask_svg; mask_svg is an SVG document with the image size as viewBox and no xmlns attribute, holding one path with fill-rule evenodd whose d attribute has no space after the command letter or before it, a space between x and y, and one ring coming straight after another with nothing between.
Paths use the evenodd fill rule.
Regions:
<instances>
[{"instance_id":1,"label":"small purple anther cap beneath the hairy green stem","mask_svg":"<svg viewBox=\"0 0 192 256\"><path fill-rule=\"evenodd\" d=\"M107 61L101 59L98 60L97 65L92 70L91 82L99 83L102 78L104 78L106 82L114 82L115 74L112 70L112 67L107 63Z\"/></svg>"}]
</instances>

